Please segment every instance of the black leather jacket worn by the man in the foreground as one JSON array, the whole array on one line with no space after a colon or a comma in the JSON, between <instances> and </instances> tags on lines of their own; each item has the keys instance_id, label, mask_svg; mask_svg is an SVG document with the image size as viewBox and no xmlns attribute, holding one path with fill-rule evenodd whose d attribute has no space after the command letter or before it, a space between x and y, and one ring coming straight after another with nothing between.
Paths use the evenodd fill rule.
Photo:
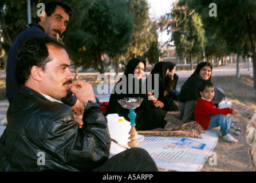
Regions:
<instances>
[{"instance_id":1,"label":"black leather jacket worn by the man in the foreground","mask_svg":"<svg viewBox=\"0 0 256 183\"><path fill-rule=\"evenodd\" d=\"M107 161L107 120L89 101L82 128L72 109L22 86L7 110L0 138L0 171L91 171Z\"/></svg>"}]
</instances>

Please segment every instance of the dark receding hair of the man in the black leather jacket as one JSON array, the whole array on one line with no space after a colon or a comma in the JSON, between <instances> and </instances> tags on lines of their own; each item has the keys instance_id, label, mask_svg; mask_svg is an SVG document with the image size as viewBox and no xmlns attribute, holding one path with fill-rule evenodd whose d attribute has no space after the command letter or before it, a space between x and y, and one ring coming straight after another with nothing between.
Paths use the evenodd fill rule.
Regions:
<instances>
[{"instance_id":1,"label":"dark receding hair of the man in the black leather jacket","mask_svg":"<svg viewBox=\"0 0 256 183\"><path fill-rule=\"evenodd\" d=\"M15 60L15 69L22 83L30 77L33 66L41 67L45 70L46 63L52 61L47 45L52 45L58 49L64 49L61 42L46 36L32 36L19 47Z\"/></svg>"}]
</instances>

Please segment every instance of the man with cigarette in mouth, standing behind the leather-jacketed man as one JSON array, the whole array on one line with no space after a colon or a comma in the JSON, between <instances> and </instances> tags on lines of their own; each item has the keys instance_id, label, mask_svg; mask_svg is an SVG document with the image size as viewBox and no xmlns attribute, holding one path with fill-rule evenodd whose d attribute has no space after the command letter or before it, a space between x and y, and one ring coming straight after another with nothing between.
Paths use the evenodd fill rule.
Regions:
<instances>
[{"instance_id":1,"label":"man with cigarette in mouth, standing behind the leather-jacketed man","mask_svg":"<svg viewBox=\"0 0 256 183\"><path fill-rule=\"evenodd\" d=\"M49 36L61 41L59 36L66 30L71 15L72 8L68 3L59 0L48 1L45 3L45 11L41 13L40 21L30 23L28 29L17 35L10 47L6 66L6 97L9 103L19 92L20 85L23 84L15 71L15 58L19 47L31 35ZM62 102L72 106L77 116L82 115L84 106L76 97L72 96L72 92L69 91L68 95L62 98Z\"/></svg>"}]
</instances>

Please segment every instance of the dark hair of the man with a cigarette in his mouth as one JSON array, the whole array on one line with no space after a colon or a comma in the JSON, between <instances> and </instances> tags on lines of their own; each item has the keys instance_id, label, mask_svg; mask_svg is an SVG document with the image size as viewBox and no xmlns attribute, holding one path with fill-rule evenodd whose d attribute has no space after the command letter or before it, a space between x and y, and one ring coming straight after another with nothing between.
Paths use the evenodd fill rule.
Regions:
<instances>
[{"instance_id":1,"label":"dark hair of the man with a cigarette in his mouth","mask_svg":"<svg viewBox=\"0 0 256 183\"><path fill-rule=\"evenodd\" d=\"M53 1L47 1L45 3L45 12L48 17L52 15L55 12L56 6L61 6L65 13L69 15L69 19L73 13L72 7L66 3L65 1L61 0L53 0Z\"/></svg>"}]
</instances>

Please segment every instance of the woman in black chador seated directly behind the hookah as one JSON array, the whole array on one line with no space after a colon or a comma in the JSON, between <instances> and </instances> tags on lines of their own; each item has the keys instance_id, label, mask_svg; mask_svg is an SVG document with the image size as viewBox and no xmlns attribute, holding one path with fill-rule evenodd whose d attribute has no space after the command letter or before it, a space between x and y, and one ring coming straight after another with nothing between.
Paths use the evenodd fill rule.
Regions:
<instances>
[{"instance_id":1,"label":"woman in black chador seated directly behind the hookah","mask_svg":"<svg viewBox=\"0 0 256 183\"><path fill-rule=\"evenodd\" d=\"M145 66L146 63L143 59L133 58L129 60L127 69L113 88L114 91L112 91L111 97L109 98L105 115L117 113L119 116L123 116L126 120L130 121L128 118L129 110L122 108L117 101L127 97L141 97L144 98L144 100L141 102L141 105L135 109L137 114L135 119L136 130L164 128L167 124L167 121L164 120L166 112L156 108L153 101L148 100L148 94L146 90L143 89L144 85L141 83Z\"/></svg>"}]
</instances>

